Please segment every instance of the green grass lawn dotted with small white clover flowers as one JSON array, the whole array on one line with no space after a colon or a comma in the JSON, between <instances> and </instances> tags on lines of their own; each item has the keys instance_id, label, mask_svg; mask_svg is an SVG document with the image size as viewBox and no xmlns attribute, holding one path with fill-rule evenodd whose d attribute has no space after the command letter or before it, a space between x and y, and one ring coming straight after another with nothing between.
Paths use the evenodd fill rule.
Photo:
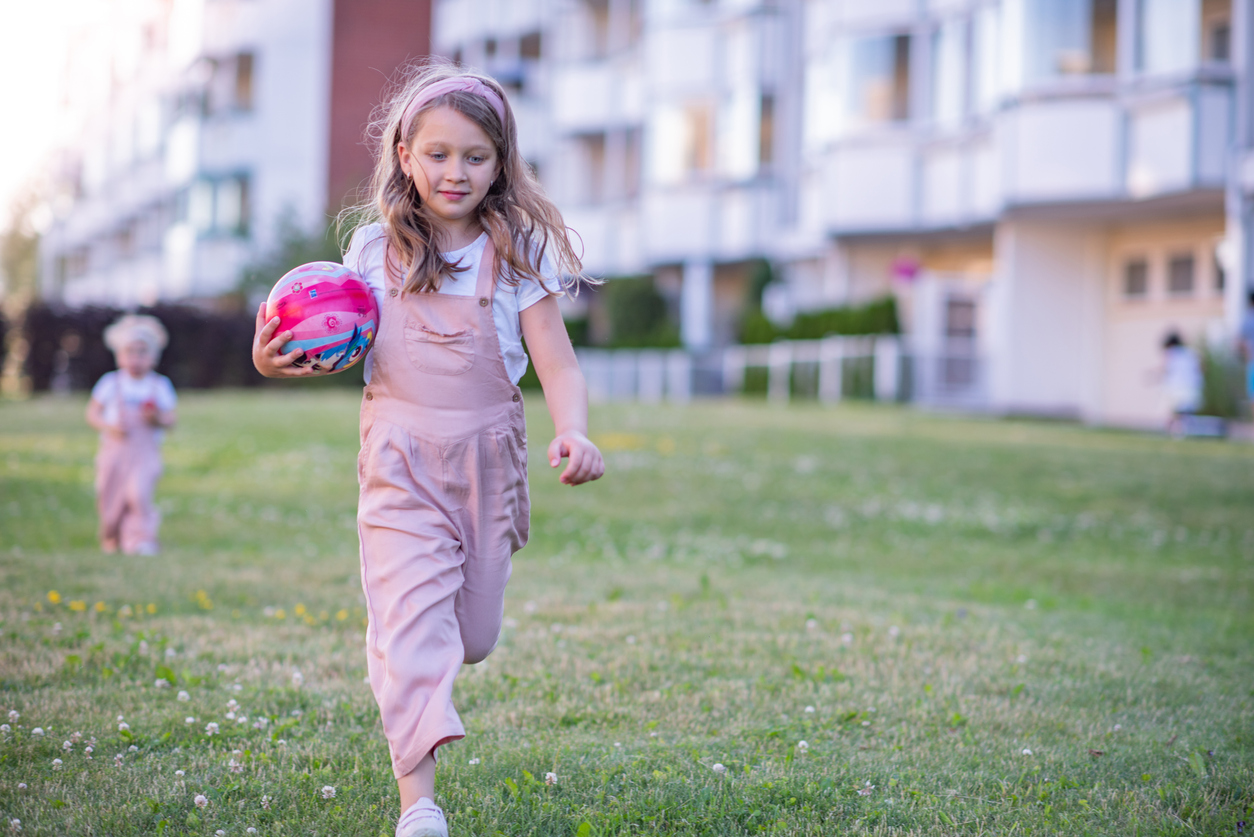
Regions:
<instances>
[{"instance_id":1,"label":"green grass lawn dotted with small white clover flowers","mask_svg":"<svg viewBox=\"0 0 1254 837\"><path fill-rule=\"evenodd\" d=\"M1254 448L613 405L566 488L532 400L454 836L1254 833ZM0 829L390 836L355 398L186 394L159 557L98 552L83 405L0 404Z\"/></svg>"}]
</instances>

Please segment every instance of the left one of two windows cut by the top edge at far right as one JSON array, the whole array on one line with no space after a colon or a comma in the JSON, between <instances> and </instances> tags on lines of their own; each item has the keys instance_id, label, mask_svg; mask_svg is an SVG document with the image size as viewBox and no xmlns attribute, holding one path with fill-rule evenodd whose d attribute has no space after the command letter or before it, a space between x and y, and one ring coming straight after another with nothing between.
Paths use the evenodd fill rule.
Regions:
<instances>
[{"instance_id":1,"label":"left one of two windows cut by the top edge at far right","mask_svg":"<svg viewBox=\"0 0 1254 837\"><path fill-rule=\"evenodd\" d=\"M1028 82L1115 72L1117 0L1023 4L1023 69Z\"/></svg>"}]
</instances>

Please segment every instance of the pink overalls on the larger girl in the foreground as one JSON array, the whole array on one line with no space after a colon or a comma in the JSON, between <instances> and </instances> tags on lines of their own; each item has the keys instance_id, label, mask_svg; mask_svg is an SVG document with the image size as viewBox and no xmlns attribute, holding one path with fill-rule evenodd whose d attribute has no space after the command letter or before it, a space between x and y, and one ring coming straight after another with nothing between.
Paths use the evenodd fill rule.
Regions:
<instances>
[{"instance_id":1,"label":"pink overalls on the larger girl in the foreground","mask_svg":"<svg viewBox=\"0 0 1254 837\"><path fill-rule=\"evenodd\" d=\"M370 686L400 778L465 735L463 663L500 635L527 542L527 427L492 319L489 241L474 296L387 292L361 403L357 532Z\"/></svg>"}]
</instances>

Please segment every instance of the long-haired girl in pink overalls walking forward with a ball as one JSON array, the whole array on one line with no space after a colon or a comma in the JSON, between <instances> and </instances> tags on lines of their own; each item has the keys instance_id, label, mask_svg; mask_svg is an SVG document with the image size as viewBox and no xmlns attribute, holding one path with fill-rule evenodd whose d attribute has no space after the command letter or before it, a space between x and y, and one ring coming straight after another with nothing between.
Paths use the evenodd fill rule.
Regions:
<instances>
[{"instance_id":1,"label":"long-haired girl in pink overalls walking forward with a ball","mask_svg":"<svg viewBox=\"0 0 1254 837\"><path fill-rule=\"evenodd\" d=\"M587 437L587 388L558 311L579 260L557 208L518 152L514 115L490 78L428 67L381 124L377 223L345 255L375 290L366 358L357 532L370 684L400 788L398 837L446 837L436 749L465 735L453 708L464 663L500 634L510 556L527 542L527 438L518 379L527 339L568 486L604 472ZM253 360L298 376L278 319L257 312Z\"/></svg>"}]
</instances>

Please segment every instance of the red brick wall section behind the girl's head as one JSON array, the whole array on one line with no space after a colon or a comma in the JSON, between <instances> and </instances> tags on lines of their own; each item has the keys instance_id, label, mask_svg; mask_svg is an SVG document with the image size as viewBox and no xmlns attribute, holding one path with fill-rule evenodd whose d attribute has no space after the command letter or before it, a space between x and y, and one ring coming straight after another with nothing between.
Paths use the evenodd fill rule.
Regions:
<instances>
[{"instance_id":1,"label":"red brick wall section behind the girl's head","mask_svg":"<svg viewBox=\"0 0 1254 837\"><path fill-rule=\"evenodd\" d=\"M332 0L327 210L356 202L372 166L366 123L387 82L431 48L431 0Z\"/></svg>"}]
</instances>

